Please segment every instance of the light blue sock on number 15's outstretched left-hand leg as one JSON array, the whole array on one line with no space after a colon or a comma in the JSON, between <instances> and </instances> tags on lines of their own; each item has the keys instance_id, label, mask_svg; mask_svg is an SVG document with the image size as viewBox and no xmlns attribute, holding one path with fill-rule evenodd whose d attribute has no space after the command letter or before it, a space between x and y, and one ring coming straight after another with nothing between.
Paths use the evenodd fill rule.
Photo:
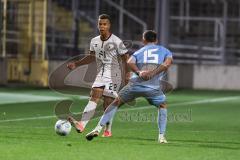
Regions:
<instances>
[{"instance_id":1,"label":"light blue sock on number 15's outstretched left-hand leg","mask_svg":"<svg viewBox=\"0 0 240 160\"><path fill-rule=\"evenodd\" d=\"M115 113L117 112L118 107L111 104L104 112L104 115L101 117L99 124L101 126L105 126L107 122L109 122Z\"/></svg>"}]
</instances>

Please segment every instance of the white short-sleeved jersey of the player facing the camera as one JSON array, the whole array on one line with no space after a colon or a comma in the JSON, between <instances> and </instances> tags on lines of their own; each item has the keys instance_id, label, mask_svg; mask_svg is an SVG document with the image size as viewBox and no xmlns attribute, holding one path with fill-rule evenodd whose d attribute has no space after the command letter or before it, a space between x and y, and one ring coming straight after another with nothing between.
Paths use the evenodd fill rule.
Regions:
<instances>
[{"instance_id":1,"label":"white short-sleeved jersey of the player facing the camera","mask_svg":"<svg viewBox=\"0 0 240 160\"><path fill-rule=\"evenodd\" d=\"M121 73L121 59L119 56L127 53L122 40L111 34L107 40L97 36L91 40L90 51L95 52L97 63L97 76L113 78Z\"/></svg>"}]
</instances>

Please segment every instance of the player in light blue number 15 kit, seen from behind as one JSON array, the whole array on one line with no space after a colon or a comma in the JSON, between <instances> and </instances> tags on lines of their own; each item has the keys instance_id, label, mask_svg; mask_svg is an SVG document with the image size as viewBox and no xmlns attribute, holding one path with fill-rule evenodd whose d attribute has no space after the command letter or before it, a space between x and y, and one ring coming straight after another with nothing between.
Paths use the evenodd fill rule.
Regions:
<instances>
[{"instance_id":1,"label":"player in light blue number 15 kit, seen from behind","mask_svg":"<svg viewBox=\"0 0 240 160\"><path fill-rule=\"evenodd\" d=\"M96 128L86 135L87 140L97 137L106 123L124 103L137 97L145 97L149 104L158 108L159 143L167 143L165 131L167 125L166 96L161 90L160 81L164 72L172 64L172 53L157 45L157 34L148 30L143 33L144 47L136 51L128 60L128 66L134 73L130 82L118 93L118 97L105 110Z\"/></svg>"}]
</instances>

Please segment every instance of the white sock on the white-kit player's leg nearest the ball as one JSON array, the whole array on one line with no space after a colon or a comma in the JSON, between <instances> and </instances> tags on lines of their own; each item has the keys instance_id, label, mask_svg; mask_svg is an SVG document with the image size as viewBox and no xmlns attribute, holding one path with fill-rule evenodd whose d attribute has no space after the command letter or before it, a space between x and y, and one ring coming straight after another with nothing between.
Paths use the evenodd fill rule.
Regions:
<instances>
[{"instance_id":1,"label":"white sock on the white-kit player's leg nearest the ball","mask_svg":"<svg viewBox=\"0 0 240 160\"><path fill-rule=\"evenodd\" d=\"M89 120L93 117L96 107L97 107L97 103L93 101L88 101L88 104L84 108L82 119L81 119L81 122L84 128L89 122Z\"/></svg>"}]
</instances>

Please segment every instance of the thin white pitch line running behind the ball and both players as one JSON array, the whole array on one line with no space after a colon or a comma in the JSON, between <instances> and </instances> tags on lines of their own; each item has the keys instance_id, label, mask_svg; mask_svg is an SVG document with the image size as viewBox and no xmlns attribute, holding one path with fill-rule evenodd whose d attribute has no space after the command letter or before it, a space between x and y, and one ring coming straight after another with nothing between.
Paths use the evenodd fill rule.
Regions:
<instances>
[{"instance_id":1,"label":"thin white pitch line running behind the ball and both players","mask_svg":"<svg viewBox=\"0 0 240 160\"><path fill-rule=\"evenodd\" d=\"M171 104L171 107L174 106L183 106L183 105L194 105L194 104L204 104L204 103L216 103L216 102L225 102L230 100L237 100L240 96L232 96L232 97L224 97L224 98L214 98L214 99L204 99L204 100L197 100L197 101L189 101L189 102L182 102L182 103L174 103ZM138 108L127 108L127 109L120 109L119 111L132 111L132 110L143 110L143 109L154 109L154 107L143 106ZM56 116L39 116L39 117L26 117L26 118L17 118L17 119L9 119L9 120L1 120L0 123L4 122L17 122L17 121L27 121L27 120L38 120L38 119L50 119L55 118Z\"/></svg>"}]
</instances>

